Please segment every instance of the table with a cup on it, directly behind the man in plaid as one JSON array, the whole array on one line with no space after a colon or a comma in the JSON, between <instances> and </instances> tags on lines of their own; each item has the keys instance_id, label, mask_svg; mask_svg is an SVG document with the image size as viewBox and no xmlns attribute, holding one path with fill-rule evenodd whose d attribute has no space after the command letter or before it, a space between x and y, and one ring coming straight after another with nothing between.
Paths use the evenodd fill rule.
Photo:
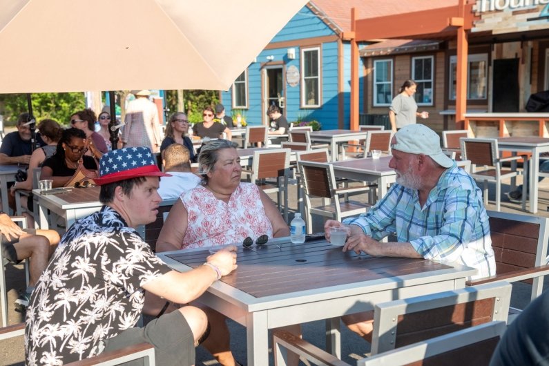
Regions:
<instances>
[{"instance_id":1,"label":"table with a cup on it, directly behind the man in plaid","mask_svg":"<svg viewBox=\"0 0 549 366\"><path fill-rule=\"evenodd\" d=\"M343 162L331 162L334 166L336 177L347 178L364 182L377 182L378 198L387 193L387 184L396 181L396 172L389 168L392 156L382 156L379 159L365 157L363 159L343 160ZM374 204L375 202L370 202Z\"/></svg>"}]
</instances>

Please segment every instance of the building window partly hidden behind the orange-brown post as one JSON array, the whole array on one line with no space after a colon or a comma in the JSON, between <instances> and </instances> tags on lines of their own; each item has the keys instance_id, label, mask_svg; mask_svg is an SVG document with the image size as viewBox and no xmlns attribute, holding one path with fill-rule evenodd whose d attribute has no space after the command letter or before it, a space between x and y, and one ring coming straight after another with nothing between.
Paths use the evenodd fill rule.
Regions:
<instances>
[{"instance_id":1,"label":"building window partly hidden behind the orange-brown post","mask_svg":"<svg viewBox=\"0 0 549 366\"><path fill-rule=\"evenodd\" d=\"M469 55L467 60L467 99L486 99L488 93L488 54ZM450 57L450 99L456 99L456 56Z\"/></svg>"}]
</instances>

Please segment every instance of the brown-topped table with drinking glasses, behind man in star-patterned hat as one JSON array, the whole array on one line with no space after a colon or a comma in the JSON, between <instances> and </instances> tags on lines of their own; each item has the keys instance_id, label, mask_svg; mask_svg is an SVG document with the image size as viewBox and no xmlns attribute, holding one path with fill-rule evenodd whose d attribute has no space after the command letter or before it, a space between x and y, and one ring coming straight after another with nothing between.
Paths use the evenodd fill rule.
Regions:
<instances>
[{"instance_id":1,"label":"brown-topped table with drinking glasses, behind man in star-patterned hat","mask_svg":"<svg viewBox=\"0 0 549 366\"><path fill-rule=\"evenodd\" d=\"M99 211L102 206L99 189L99 186L57 189L56 194L43 194L40 189L33 189L32 193L38 198L40 229L49 229L48 210L65 219L66 229L79 218Z\"/></svg>"}]
</instances>

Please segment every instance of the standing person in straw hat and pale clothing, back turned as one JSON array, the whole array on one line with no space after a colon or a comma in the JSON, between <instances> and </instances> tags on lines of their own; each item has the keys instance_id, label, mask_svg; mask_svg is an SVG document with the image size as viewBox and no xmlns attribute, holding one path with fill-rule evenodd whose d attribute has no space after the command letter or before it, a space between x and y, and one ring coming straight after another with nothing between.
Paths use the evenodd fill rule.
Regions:
<instances>
[{"instance_id":1,"label":"standing person in straw hat and pale clothing, back turned","mask_svg":"<svg viewBox=\"0 0 549 366\"><path fill-rule=\"evenodd\" d=\"M160 119L156 104L148 100L149 90L132 90L135 99L128 103L124 117L122 144L124 147L146 146L153 153L160 152Z\"/></svg>"}]
</instances>

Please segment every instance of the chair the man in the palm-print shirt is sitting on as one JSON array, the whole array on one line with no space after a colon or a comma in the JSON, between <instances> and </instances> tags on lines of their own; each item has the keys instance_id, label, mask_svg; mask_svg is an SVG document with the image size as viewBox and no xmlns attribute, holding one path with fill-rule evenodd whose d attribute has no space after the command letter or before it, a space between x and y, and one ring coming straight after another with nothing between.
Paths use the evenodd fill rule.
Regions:
<instances>
[{"instance_id":1,"label":"chair the man in the palm-print shirt is sitting on","mask_svg":"<svg viewBox=\"0 0 549 366\"><path fill-rule=\"evenodd\" d=\"M20 322L15 325L0 328L0 340L15 338L25 334L25 323ZM23 339L21 339L21 348L24 347ZM112 366L122 365L131 360L143 359L145 366L155 366L155 347L149 343L139 343L131 345L116 351L108 351L97 356L86 358L72 363L66 363L66 366Z\"/></svg>"}]
</instances>

